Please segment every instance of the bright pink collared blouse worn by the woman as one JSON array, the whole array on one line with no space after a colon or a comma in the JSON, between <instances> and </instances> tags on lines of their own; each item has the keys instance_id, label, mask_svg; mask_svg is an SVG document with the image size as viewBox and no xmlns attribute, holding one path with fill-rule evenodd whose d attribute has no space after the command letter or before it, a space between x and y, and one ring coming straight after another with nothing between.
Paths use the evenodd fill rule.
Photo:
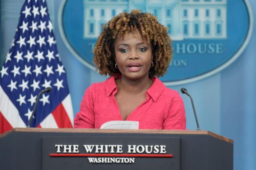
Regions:
<instances>
[{"instance_id":1,"label":"bright pink collared blouse worn by the woman","mask_svg":"<svg viewBox=\"0 0 256 170\"><path fill-rule=\"evenodd\" d=\"M152 86L146 91L146 100L126 120L139 121L139 129L185 130L186 116L182 98L158 78L152 80ZM100 128L108 121L122 121L116 93L114 77L88 87L80 112L74 120L75 128Z\"/></svg>"}]
</instances>

